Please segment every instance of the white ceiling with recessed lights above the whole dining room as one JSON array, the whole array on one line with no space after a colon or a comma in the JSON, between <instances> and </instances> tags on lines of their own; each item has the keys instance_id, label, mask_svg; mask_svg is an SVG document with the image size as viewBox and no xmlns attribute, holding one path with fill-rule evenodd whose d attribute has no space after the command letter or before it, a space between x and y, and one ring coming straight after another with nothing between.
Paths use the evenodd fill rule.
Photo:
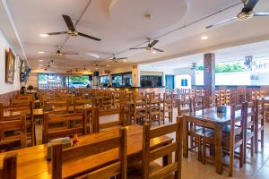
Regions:
<instances>
[{"instance_id":1,"label":"white ceiling with recessed lights above the whole dining room","mask_svg":"<svg viewBox=\"0 0 269 179\"><path fill-rule=\"evenodd\" d=\"M88 3L89 0L8 1L32 68L39 66L39 59L43 59L44 64L51 59L52 54L39 55L38 51L56 51L56 46L61 46L67 38L67 35L40 38L39 34L66 30L62 14L70 15L77 21ZM106 59L113 53L120 53L118 57L128 56L126 64L135 64L269 39L269 18L265 17L234 21L212 30L204 29L207 25L237 15L242 4L177 30L238 3L239 0L92 0L76 29L102 38L102 41L82 37L68 38L63 51L76 51L80 55L66 55L61 59L54 55L59 64L57 68L82 68L82 65L89 65L91 68L95 63L110 64L111 68L118 64L101 59ZM260 0L256 10L269 11L269 1ZM152 15L151 19L144 18L147 13ZM200 38L203 35L209 38L203 41ZM127 50L137 45L143 47L145 38L158 38L160 43L156 47L165 50L165 53L152 55L148 51ZM93 57L96 55L101 59Z\"/></svg>"}]
</instances>

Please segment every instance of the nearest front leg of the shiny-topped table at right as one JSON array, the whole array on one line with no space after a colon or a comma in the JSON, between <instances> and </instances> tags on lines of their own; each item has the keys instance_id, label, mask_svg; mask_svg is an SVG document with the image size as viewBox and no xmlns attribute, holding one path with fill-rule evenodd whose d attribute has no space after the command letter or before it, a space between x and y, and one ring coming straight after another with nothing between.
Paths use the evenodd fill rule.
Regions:
<instances>
[{"instance_id":1,"label":"nearest front leg of the shiny-topped table at right","mask_svg":"<svg viewBox=\"0 0 269 179\"><path fill-rule=\"evenodd\" d=\"M215 165L216 172L222 174L222 130L220 126L215 127Z\"/></svg>"}]
</instances>

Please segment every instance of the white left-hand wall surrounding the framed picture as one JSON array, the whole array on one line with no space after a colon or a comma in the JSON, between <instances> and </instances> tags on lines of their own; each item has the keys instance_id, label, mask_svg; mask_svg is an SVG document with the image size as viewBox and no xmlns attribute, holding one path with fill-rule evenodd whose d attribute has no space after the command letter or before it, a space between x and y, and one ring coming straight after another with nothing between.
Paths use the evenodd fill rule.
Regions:
<instances>
[{"instance_id":1,"label":"white left-hand wall surrounding the framed picture","mask_svg":"<svg viewBox=\"0 0 269 179\"><path fill-rule=\"evenodd\" d=\"M14 90L20 90L20 69L19 69L19 58L16 56L16 52L14 55L16 56L15 59L15 72L14 72L14 82L13 84L5 83L5 49L9 49L10 43L4 37L4 34L0 30L0 94L8 93Z\"/></svg>"}]
</instances>

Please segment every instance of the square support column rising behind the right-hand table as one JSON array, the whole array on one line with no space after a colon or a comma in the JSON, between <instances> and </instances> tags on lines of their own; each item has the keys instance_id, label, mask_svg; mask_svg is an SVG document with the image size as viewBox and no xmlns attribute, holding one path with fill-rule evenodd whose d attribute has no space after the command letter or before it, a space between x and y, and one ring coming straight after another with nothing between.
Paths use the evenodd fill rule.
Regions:
<instances>
[{"instance_id":1,"label":"square support column rising behind the right-hand table","mask_svg":"<svg viewBox=\"0 0 269 179\"><path fill-rule=\"evenodd\" d=\"M204 54L204 107L210 107L209 97L215 95L215 55Z\"/></svg>"}]
</instances>

